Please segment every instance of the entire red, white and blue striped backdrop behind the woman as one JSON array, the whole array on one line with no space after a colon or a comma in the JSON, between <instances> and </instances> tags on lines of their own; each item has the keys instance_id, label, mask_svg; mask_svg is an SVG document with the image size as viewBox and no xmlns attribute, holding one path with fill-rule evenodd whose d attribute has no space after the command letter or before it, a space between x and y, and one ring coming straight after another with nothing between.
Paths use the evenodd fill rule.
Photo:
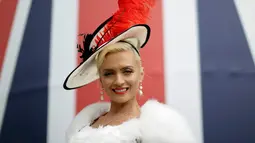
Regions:
<instances>
[{"instance_id":1,"label":"entire red, white and blue striped backdrop behind the woman","mask_svg":"<svg viewBox=\"0 0 255 143\"><path fill-rule=\"evenodd\" d=\"M77 35L117 9L117 0L0 0L0 143L65 142L73 117L100 99L98 81L62 87L81 62ZM148 24L139 103L178 110L198 143L255 143L255 1L157 0Z\"/></svg>"}]
</instances>

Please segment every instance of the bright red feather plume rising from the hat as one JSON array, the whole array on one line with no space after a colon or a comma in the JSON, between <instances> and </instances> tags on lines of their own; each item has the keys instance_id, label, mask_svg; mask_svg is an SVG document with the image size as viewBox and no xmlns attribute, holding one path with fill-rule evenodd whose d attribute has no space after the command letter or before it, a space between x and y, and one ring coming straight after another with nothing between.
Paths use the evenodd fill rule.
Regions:
<instances>
[{"instance_id":1,"label":"bright red feather plume rising from the hat","mask_svg":"<svg viewBox=\"0 0 255 143\"><path fill-rule=\"evenodd\" d=\"M124 30L135 24L145 24L149 18L150 10L156 0L119 0L119 9L116 11L100 35L97 35L98 46L116 37ZM101 40L101 41L100 41Z\"/></svg>"}]
</instances>

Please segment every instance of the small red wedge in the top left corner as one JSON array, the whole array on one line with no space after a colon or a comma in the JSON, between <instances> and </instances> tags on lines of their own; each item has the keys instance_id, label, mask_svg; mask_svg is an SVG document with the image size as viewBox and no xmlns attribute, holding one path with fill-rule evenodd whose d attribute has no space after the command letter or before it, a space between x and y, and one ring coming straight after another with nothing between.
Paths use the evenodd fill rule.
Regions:
<instances>
[{"instance_id":1,"label":"small red wedge in the top left corner","mask_svg":"<svg viewBox=\"0 0 255 143\"><path fill-rule=\"evenodd\" d=\"M7 49L13 18L17 6L17 0L0 1L0 72L2 71L5 52Z\"/></svg>"}]
</instances>

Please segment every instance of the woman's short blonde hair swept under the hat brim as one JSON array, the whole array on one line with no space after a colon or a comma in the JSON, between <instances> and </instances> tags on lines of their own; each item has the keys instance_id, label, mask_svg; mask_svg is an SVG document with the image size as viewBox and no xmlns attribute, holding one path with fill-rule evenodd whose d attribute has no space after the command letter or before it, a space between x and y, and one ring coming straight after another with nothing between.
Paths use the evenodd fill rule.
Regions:
<instances>
[{"instance_id":1,"label":"woman's short blonde hair swept under the hat brim","mask_svg":"<svg viewBox=\"0 0 255 143\"><path fill-rule=\"evenodd\" d=\"M137 51L140 47L137 47ZM121 51L127 51L127 50L131 50L133 51L133 53L135 54L135 58L137 61L139 61L140 67L141 67L141 71L142 70L142 65L141 65L141 57L140 55L137 53L137 51L131 46L131 44L126 43L126 42L117 42L115 44L109 45L104 47L104 49L99 52L96 57L96 63L97 63L97 69L99 71L101 65L104 62L105 57L109 54L109 53L116 53L116 52L121 52Z\"/></svg>"}]
</instances>

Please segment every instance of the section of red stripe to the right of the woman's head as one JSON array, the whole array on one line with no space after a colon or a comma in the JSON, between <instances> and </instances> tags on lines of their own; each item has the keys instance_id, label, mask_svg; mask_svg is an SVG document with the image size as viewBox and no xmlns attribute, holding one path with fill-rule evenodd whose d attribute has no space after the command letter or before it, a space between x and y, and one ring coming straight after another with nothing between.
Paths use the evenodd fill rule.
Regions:
<instances>
[{"instance_id":1,"label":"section of red stripe to the right of the woman's head","mask_svg":"<svg viewBox=\"0 0 255 143\"><path fill-rule=\"evenodd\" d=\"M140 102L143 104L148 98L156 98L165 102L164 92L164 55L163 55L163 14L162 1L157 0L152 11L149 25L151 37L148 44L141 50L145 77L143 81L144 96Z\"/></svg>"}]
</instances>

